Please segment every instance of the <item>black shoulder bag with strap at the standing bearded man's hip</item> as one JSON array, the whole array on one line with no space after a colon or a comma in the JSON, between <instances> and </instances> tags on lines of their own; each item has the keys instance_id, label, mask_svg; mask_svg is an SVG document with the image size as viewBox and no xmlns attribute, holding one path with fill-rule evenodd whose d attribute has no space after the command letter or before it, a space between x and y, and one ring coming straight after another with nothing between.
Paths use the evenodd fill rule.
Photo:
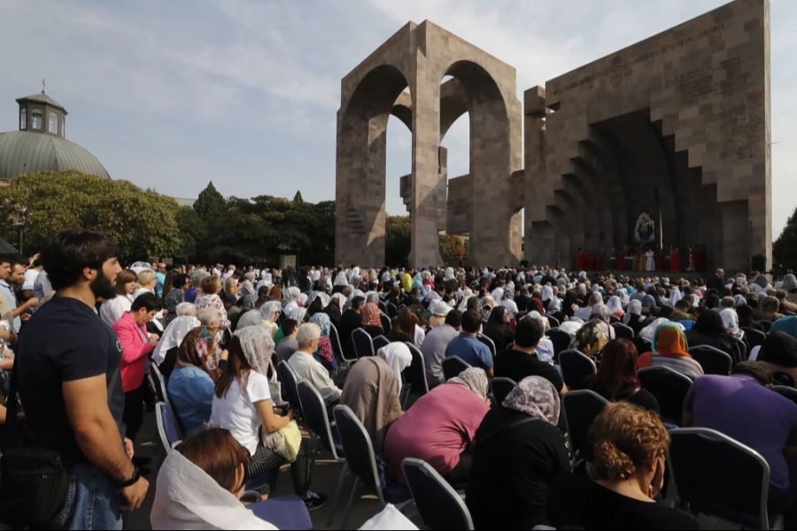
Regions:
<instances>
[{"instance_id":1,"label":"black shoulder bag with strap at the standing bearded man's hip","mask_svg":"<svg viewBox=\"0 0 797 531\"><path fill-rule=\"evenodd\" d=\"M119 367L108 383L108 400ZM55 450L20 445L17 427L17 362L14 361L0 458L0 520L12 526L36 526L55 518L66 503L69 469Z\"/></svg>"}]
</instances>

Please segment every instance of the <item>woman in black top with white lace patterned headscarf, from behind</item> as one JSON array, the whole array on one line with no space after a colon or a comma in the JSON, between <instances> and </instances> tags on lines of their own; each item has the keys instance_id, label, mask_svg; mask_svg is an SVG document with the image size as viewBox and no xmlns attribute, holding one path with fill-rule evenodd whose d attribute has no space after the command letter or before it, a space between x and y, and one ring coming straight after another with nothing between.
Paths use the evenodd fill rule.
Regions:
<instances>
[{"instance_id":1,"label":"woman in black top with white lace patterned headscarf, from behind","mask_svg":"<svg viewBox=\"0 0 797 531\"><path fill-rule=\"evenodd\" d=\"M541 376L518 382L476 431L465 503L476 529L546 524L548 490L570 471L559 431L559 393Z\"/></svg>"}]
</instances>

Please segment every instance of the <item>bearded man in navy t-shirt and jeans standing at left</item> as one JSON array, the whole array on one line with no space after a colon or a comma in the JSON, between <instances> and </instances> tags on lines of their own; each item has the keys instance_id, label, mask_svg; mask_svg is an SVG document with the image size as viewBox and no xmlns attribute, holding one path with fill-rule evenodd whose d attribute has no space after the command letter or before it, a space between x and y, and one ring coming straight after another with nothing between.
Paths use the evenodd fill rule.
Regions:
<instances>
[{"instance_id":1,"label":"bearded man in navy t-shirt and jeans standing at left","mask_svg":"<svg viewBox=\"0 0 797 531\"><path fill-rule=\"evenodd\" d=\"M121 512L138 508L149 486L122 435L120 344L95 311L98 297L114 296L118 256L99 233L56 235L41 256L56 294L28 321L19 342L25 443L58 451L71 476L52 527L121 529Z\"/></svg>"}]
</instances>

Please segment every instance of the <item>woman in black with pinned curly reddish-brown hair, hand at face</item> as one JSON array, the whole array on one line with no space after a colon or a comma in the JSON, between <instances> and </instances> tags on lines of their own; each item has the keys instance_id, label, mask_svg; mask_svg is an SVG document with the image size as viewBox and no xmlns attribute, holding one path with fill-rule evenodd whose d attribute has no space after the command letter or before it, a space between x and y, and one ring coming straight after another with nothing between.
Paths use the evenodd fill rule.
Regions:
<instances>
[{"instance_id":1,"label":"woman in black with pinned curly reddish-brown hair, hand at face","mask_svg":"<svg viewBox=\"0 0 797 531\"><path fill-rule=\"evenodd\" d=\"M590 478L557 478L548 523L578 529L697 529L685 512L656 503L664 484L669 434L654 412L632 404L609 404L589 432Z\"/></svg>"}]
</instances>

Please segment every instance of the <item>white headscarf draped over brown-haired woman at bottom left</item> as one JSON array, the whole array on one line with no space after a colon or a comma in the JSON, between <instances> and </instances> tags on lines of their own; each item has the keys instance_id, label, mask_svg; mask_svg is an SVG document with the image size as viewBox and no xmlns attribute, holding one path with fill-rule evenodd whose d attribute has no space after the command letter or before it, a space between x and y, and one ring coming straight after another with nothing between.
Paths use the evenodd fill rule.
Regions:
<instances>
[{"instance_id":1,"label":"white headscarf draped over brown-haired woman at bottom left","mask_svg":"<svg viewBox=\"0 0 797 531\"><path fill-rule=\"evenodd\" d=\"M179 451L160 466L156 491L153 529L276 529Z\"/></svg>"}]
</instances>

